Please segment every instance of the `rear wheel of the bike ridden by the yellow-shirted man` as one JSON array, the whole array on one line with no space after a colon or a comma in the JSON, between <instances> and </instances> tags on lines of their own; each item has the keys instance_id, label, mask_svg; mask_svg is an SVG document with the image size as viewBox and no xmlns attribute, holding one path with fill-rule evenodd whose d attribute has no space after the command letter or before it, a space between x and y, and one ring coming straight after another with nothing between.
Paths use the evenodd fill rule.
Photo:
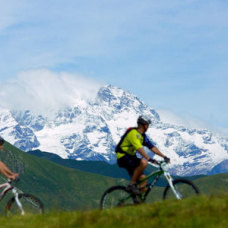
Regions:
<instances>
[{"instance_id":1,"label":"rear wheel of the bike ridden by the yellow-shirted man","mask_svg":"<svg viewBox=\"0 0 228 228\"><path fill-rule=\"evenodd\" d=\"M134 194L129 193L124 186L113 186L107 189L101 197L100 209L131 206L137 204Z\"/></svg>"}]
</instances>

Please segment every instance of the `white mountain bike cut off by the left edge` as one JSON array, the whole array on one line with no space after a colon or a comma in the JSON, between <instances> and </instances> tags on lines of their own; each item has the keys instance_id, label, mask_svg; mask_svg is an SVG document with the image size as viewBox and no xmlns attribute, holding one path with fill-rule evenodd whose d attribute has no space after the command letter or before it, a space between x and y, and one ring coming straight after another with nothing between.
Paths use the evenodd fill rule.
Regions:
<instances>
[{"instance_id":1,"label":"white mountain bike cut off by the left edge","mask_svg":"<svg viewBox=\"0 0 228 228\"><path fill-rule=\"evenodd\" d=\"M14 187L12 184L12 180L8 179L5 183L0 184L0 189L1 188L3 188L3 190L0 194L0 201L9 191L11 191L13 194L13 197L8 201L5 207L6 215L9 216L17 214L25 215L27 213L44 213L44 207L42 202L36 196L23 193L21 190Z\"/></svg>"}]
</instances>

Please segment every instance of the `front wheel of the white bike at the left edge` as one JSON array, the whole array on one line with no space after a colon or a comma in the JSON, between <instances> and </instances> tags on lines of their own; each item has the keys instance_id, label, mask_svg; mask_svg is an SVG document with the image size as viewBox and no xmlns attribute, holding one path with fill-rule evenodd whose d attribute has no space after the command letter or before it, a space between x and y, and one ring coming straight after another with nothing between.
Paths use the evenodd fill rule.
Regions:
<instances>
[{"instance_id":1,"label":"front wheel of the white bike at the left edge","mask_svg":"<svg viewBox=\"0 0 228 228\"><path fill-rule=\"evenodd\" d=\"M19 194L19 201L25 214L43 214L44 207L40 199L31 194ZM15 197L12 197L5 208L6 215L23 215L22 210L18 207Z\"/></svg>"}]
</instances>

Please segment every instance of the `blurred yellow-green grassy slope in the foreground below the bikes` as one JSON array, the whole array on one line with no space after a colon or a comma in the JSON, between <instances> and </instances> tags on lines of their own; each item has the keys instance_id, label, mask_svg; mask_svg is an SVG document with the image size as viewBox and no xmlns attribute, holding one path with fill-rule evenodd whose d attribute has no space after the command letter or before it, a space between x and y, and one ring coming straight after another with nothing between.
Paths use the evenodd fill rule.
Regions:
<instances>
[{"instance_id":1,"label":"blurred yellow-green grassy slope in the foreground below the bikes","mask_svg":"<svg viewBox=\"0 0 228 228\"><path fill-rule=\"evenodd\" d=\"M0 217L0 227L227 227L228 194L111 210Z\"/></svg>"}]
</instances>

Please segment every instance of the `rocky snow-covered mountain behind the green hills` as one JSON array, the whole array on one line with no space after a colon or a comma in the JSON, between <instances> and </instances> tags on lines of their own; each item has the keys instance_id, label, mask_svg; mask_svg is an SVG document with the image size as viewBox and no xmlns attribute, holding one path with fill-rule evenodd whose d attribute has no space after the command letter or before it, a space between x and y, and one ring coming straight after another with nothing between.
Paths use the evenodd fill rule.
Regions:
<instances>
[{"instance_id":1,"label":"rocky snow-covered mountain behind the green hills","mask_svg":"<svg viewBox=\"0 0 228 228\"><path fill-rule=\"evenodd\" d=\"M153 108L113 86L100 88L93 102L78 101L52 118L0 109L0 134L24 151L40 149L63 158L114 163L116 143L141 114L151 118L148 135L171 158L172 173L206 174L228 159L227 139L208 130L163 123Z\"/></svg>"}]
</instances>

